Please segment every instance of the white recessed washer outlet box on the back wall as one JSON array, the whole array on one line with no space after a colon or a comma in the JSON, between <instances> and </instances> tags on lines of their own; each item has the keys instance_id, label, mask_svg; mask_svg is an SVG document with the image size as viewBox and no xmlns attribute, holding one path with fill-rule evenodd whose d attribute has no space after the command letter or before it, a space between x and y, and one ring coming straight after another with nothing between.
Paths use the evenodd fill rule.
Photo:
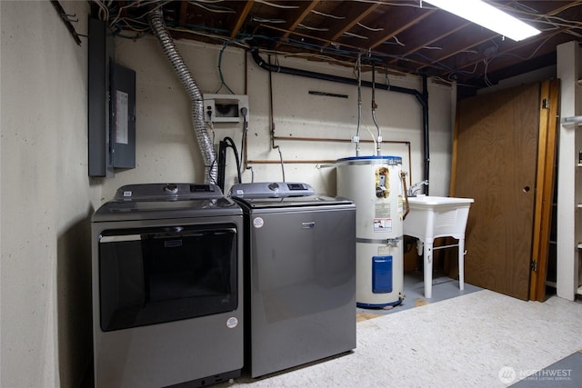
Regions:
<instances>
[{"instance_id":1,"label":"white recessed washer outlet box on the back wall","mask_svg":"<svg viewBox=\"0 0 582 388\"><path fill-rule=\"evenodd\" d=\"M247 95L204 95L206 123L248 123Z\"/></svg>"}]
</instances>

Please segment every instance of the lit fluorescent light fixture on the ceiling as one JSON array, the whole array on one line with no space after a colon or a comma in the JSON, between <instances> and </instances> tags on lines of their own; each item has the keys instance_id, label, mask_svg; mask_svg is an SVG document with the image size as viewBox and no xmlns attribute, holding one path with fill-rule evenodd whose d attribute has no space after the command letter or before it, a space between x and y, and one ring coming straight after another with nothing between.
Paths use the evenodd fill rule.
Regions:
<instances>
[{"instance_id":1,"label":"lit fluorescent light fixture on the ceiling","mask_svg":"<svg viewBox=\"0 0 582 388\"><path fill-rule=\"evenodd\" d=\"M541 31L481 0L425 0L469 22L519 42Z\"/></svg>"}]
</instances>

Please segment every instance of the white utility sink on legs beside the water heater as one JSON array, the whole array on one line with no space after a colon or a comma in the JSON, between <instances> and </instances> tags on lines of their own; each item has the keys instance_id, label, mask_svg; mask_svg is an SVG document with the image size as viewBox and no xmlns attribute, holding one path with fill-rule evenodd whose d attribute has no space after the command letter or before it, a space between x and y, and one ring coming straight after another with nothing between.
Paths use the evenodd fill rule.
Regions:
<instances>
[{"instance_id":1,"label":"white utility sink on legs beside the water heater","mask_svg":"<svg viewBox=\"0 0 582 388\"><path fill-rule=\"evenodd\" d=\"M469 207L475 202L473 198L455 198L447 196L418 195L408 198L410 212L404 220L404 234L416 237L418 254L424 245L424 281L425 297L432 297L433 279L433 242L437 237L453 237L458 240L458 284L465 288L464 256L465 229ZM457 245L447 245L452 247Z\"/></svg>"}]
</instances>

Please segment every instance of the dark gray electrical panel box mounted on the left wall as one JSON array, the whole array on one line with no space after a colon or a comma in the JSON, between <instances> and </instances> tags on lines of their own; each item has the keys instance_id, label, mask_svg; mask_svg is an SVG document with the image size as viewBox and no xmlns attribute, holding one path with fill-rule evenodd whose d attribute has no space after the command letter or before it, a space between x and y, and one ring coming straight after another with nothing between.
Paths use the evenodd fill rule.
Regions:
<instances>
[{"instance_id":1,"label":"dark gray electrical panel box mounted on the left wall","mask_svg":"<svg viewBox=\"0 0 582 388\"><path fill-rule=\"evenodd\" d=\"M135 167L135 72L115 64L113 34L89 19L89 176Z\"/></svg>"}]
</instances>

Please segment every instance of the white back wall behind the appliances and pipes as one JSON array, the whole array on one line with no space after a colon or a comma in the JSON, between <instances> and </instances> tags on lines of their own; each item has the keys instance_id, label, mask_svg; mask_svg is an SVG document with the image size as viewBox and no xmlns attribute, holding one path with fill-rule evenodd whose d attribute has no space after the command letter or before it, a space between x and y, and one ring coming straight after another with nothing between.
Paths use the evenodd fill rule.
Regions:
<instances>
[{"instance_id":1,"label":"white back wall behind the appliances and pipes","mask_svg":"<svg viewBox=\"0 0 582 388\"><path fill-rule=\"evenodd\" d=\"M203 45L176 41L196 83L205 94L228 95L218 75L218 55L222 45ZM115 39L116 60L136 72L137 87L137 152L135 170L117 172L114 179L105 182L104 197L110 197L122 184L147 182L202 182L204 170L196 138L191 129L186 93L169 62L153 37L136 41ZM262 55L267 59L266 55ZM275 59L275 58L274 58ZM279 65L317 73L352 77L353 69L306 61L305 59L277 58ZM253 168L255 181L281 181L283 175L278 163L278 150L271 148L269 118L268 72L258 67L241 48L226 48L222 70L226 85L236 95L249 96L249 124L247 158ZM363 74L371 81L370 72ZM385 75L376 75L377 83L385 83ZM391 85L420 90L422 81L414 76L390 75ZM350 139L356 134L357 87L296 75L274 73L273 112L276 136ZM431 194L447 195L450 179L452 139L451 88L428 83ZM309 91L347 95L337 98L309 95ZM412 174L414 182L423 177L422 109L416 98L384 90L376 90L376 119L385 141L410 142L411 164L406 144L383 144L382 154L403 157L404 169ZM362 88L362 125L360 136L371 140L368 131L376 135L371 115L371 89ZM225 136L235 141L240 152L242 129L238 124L216 124L215 144ZM316 190L336 194L334 168L318 168L319 164L355 156L355 145L338 142L276 141L285 163L287 181L312 184ZM217 145L216 145L217 147ZM362 144L361 155L375 154L373 144ZM301 161L313 163L294 163ZM233 154L227 153L226 190L235 183L236 170ZM251 181L251 171L243 174L243 181Z\"/></svg>"}]
</instances>

